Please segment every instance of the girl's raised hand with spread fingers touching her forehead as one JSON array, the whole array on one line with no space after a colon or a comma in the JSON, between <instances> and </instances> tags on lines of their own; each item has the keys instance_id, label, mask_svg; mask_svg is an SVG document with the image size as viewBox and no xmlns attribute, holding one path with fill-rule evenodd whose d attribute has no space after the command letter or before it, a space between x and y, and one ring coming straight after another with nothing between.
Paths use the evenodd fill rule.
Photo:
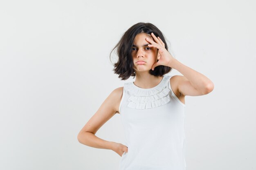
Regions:
<instances>
[{"instance_id":1,"label":"girl's raised hand with spread fingers touching her forehead","mask_svg":"<svg viewBox=\"0 0 256 170\"><path fill-rule=\"evenodd\" d=\"M171 64L171 61L173 61L175 58L173 58L173 56L165 49L164 42L159 37L156 37L153 33L151 33L151 36L153 37L155 42L150 38L146 38L146 40L151 43L151 44L148 44L148 46L150 47L153 46L157 48L158 53L160 54L160 58L158 62L155 62L152 65L151 69L154 70L156 66L160 66L160 65L170 67L169 64Z\"/></svg>"}]
</instances>

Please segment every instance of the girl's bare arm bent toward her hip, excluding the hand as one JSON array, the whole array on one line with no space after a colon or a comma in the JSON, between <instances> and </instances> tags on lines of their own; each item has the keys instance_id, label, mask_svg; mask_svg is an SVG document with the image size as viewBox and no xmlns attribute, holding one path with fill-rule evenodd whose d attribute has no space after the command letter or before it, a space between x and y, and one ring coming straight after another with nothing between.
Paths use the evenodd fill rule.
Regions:
<instances>
[{"instance_id":1,"label":"girl's bare arm bent toward her hip, excluding the hand","mask_svg":"<svg viewBox=\"0 0 256 170\"><path fill-rule=\"evenodd\" d=\"M95 136L96 132L105 124L118 110L121 101L123 87L116 88L101 104L97 112L90 118L79 132L77 139L81 144L94 148L114 150L117 143L103 140Z\"/></svg>"}]
</instances>

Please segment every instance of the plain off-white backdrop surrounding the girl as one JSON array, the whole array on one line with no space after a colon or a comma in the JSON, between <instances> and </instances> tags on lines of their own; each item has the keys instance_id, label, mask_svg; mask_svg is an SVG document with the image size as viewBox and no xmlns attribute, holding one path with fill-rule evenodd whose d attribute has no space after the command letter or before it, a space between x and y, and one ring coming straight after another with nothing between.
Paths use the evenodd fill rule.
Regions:
<instances>
[{"instance_id":1,"label":"plain off-white backdrop surrounding the girl","mask_svg":"<svg viewBox=\"0 0 256 170\"><path fill-rule=\"evenodd\" d=\"M186 96L187 170L256 169L254 0L2 0L0 169L117 170L112 150L77 135L124 82L110 51L137 22L155 24L182 64L214 90ZM181 75L177 70L173 75ZM124 144L120 115L96 133Z\"/></svg>"}]
</instances>

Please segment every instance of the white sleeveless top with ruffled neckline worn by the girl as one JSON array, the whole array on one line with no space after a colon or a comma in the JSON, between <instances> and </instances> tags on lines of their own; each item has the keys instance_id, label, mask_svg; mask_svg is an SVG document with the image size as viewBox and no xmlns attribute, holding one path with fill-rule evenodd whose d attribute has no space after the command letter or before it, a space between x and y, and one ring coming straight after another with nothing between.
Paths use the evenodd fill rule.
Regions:
<instances>
[{"instance_id":1,"label":"white sleeveless top with ruffled neckline worn by the girl","mask_svg":"<svg viewBox=\"0 0 256 170\"><path fill-rule=\"evenodd\" d=\"M183 104L164 75L153 88L124 83L119 105L128 152L119 170L185 170L186 137Z\"/></svg>"}]
</instances>

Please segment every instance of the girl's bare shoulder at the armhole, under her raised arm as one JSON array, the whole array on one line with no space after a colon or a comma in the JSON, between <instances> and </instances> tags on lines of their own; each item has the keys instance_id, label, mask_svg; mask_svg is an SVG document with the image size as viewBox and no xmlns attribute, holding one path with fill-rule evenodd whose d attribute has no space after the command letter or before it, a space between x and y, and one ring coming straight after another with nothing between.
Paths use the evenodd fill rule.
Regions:
<instances>
[{"instance_id":1,"label":"girl's bare shoulder at the armhole, under her raised arm","mask_svg":"<svg viewBox=\"0 0 256 170\"><path fill-rule=\"evenodd\" d=\"M178 99L185 104L185 96L179 92L178 85L180 80L183 78L181 75L173 75L170 79L171 89Z\"/></svg>"}]
</instances>

